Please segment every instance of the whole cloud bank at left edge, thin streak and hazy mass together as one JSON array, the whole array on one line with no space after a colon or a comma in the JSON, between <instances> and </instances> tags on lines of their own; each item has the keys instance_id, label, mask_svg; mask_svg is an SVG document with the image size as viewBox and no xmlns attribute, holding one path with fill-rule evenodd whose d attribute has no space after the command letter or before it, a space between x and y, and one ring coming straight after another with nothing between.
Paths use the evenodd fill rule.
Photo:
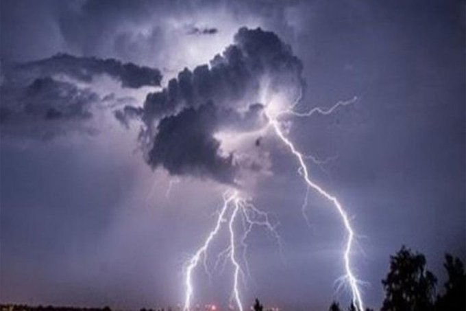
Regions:
<instances>
[{"instance_id":1,"label":"whole cloud bank at left edge, thin streak and hazy mass together","mask_svg":"<svg viewBox=\"0 0 466 311\"><path fill-rule=\"evenodd\" d=\"M162 79L157 69L68 54L8 64L0 84L1 134L49 139L74 130L96 133L99 129L90 126L89 120L97 106L134 102L132 97L117 97L114 89L106 89L101 76L110 76L123 91L158 86Z\"/></svg>"}]
</instances>

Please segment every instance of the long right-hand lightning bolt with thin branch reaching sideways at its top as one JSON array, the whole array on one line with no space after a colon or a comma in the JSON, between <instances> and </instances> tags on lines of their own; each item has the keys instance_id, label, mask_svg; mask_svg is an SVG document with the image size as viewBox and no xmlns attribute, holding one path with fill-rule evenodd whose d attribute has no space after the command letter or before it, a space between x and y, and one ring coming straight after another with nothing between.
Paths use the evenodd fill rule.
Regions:
<instances>
[{"instance_id":1,"label":"long right-hand lightning bolt with thin branch reaching sideways at its top","mask_svg":"<svg viewBox=\"0 0 466 311\"><path fill-rule=\"evenodd\" d=\"M323 109L323 108L313 108L311 111L308 111L307 113L295 113L294 111L288 110L288 111L283 111L282 113L278 113L278 115L282 115L283 113L291 113L292 115L298 116L298 117L309 117L310 115L313 115L314 113L320 113L322 115L329 115L332 113L336 108L339 106L344 106L346 104L350 104L354 101L357 100L357 97L354 97L353 100L347 101L347 102L338 102L331 108ZM345 226L345 229L347 231L347 242L345 246L345 253L343 255L343 260L345 262L345 278L347 279L349 286L352 290L352 296L353 296L353 303L356 308L358 308L359 311L364 310L364 303L362 296L360 294L360 289L358 286L358 280L356 277L354 277L354 273L352 272L351 268L351 262L350 262L350 253L352 250L352 244L354 240L354 231L351 227L351 222L349 222L349 218L346 214L345 209L343 209L342 205L339 203L339 200L336 199L335 196L332 196L328 192L326 192L321 186L317 185L314 181L310 179L309 172L307 165L304 161L304 155L299 152L294 144L286 138L284 135L282 129L280 128L280 123L276 119L276 117L271 117L271 114L268 113L267 108L265 109L265 115L267 119L269 119L269 126L272 126L273 130L275 131L275 134L280 138L280 140L289 148L291 153L295 155L298 163L299 163L299 173L300 175L304 178L304 181L308 185L308 187L311 187L315 191L317 191L321 196L326 198L327 200L330 200L336 210L339 212L339 215L341 216L341 220L343 220L343 224Z\"/></svg>"}]
</instances>

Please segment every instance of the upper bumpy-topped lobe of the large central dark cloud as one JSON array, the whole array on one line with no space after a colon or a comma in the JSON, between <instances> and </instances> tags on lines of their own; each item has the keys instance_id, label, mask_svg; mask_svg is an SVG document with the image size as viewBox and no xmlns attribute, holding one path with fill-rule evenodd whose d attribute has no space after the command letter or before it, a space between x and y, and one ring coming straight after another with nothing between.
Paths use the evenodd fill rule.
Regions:
<instances>
[{"instance_id":1,"label":"upper bumpy-topped lobe of the large central dark cloud","mask_svg":"<svg viewBox=\"0 0 466 311\"><path fill-rule=\"evenodd\" d=\"M184 69L162 91L149 93L143 119L151 128L163 115L209 100L241 108L257 100L263 79L269 79L269 87L275 91L297 89L304 84L301 72L301 61L276 34L241 28L234 36L234 45L217 54L210 67Z\"/></svg>"}]
</instances>

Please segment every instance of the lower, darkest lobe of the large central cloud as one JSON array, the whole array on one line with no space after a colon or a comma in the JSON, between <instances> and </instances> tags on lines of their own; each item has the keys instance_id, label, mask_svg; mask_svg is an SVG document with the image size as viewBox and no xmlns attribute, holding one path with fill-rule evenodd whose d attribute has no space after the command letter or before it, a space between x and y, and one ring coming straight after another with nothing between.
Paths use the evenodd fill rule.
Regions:
<instances>
[{"instance_id":1,"label":"lower, darkest lobe of the large central cloud","mask_svg":"<svg viewBox=\"0 0 466 311\"><path fill-rule=\"evenodd\" d=\"M260 104L249 106L246 113L240 114L209 102L164 117L158 124L147 162L153 168L163 166L172 175L208 177L221 183L234 183L238 163L234 162L233 154L221 155L220 141L213 135L220 128L257 128L262 124L261 111Z\"/></svg>"}]
</instances>

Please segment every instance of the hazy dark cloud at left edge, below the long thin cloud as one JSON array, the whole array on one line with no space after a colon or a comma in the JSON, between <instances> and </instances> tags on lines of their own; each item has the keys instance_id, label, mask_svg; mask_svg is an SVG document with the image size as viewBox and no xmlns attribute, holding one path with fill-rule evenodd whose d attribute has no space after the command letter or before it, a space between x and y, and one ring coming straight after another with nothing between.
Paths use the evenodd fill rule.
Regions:
<instances>
[{"instance_id":1,"label":"hazy dark cloud at left edge, below the long thin cloud","mask_svg":"<svg viewBox=\"0 0 466 311\"><path fill-rule=\"evenodd\" d=\"M2 84L1 135L50 139L70 130L94 130L83 126L92 117L99 96L74 84L36 78L25 87Z\"/></svg>"}]
</instances>

